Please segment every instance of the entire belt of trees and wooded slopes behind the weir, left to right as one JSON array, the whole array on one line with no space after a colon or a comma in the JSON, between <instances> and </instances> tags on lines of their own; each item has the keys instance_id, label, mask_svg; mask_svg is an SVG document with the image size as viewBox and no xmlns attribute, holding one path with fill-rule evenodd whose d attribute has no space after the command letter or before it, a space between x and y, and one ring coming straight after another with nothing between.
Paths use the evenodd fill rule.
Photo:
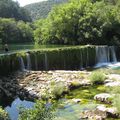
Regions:
<instances>
[{"instance_id":1,"label":"entire belt of trees and wooded slopes behind the weir, left to right","mask_svg":"<svg viewBox=\"0 0 120 120\"><path fill-rule=\"evenodd\" d=\"M55 4L60 5L52 8ZM37 5L45 8L39 6L43 13ZM26 8L30 6L36 10L31 13L43 19L28 23L31 19L25 8L12 0L0 1L0 43L31 42L34 38L37 44L120 45L119 0L49 0ZM41 15L47 16L50 10L47 18Z\"/></svg>"}]
</instances>

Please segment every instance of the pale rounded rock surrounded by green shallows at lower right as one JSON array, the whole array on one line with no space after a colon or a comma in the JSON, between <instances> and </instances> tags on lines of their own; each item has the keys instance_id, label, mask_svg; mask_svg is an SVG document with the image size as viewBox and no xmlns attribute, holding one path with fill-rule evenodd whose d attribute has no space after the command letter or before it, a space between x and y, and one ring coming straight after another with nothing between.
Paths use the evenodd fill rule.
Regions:
<instances>
[{"instance_id":1,"label":"pale rounded rock surrounded by green shallows at lower right","mask_svg":"<svg viewBox=\"0 0 120 120\"><path fill-rule=\"evenodd\" d=\"M94 99L104 103L110 103L113 96L108 93L101 93L94 96Z\"/></svg>"}]
</instances>

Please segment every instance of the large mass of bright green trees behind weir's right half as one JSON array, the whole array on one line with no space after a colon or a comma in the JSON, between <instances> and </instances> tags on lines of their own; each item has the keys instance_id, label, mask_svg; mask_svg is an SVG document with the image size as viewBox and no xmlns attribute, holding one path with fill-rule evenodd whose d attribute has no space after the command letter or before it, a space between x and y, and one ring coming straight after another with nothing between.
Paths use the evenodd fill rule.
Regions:
<instances>
[{"instance_id":1,"label":"large mass of bright green trees behind weir's right half","mask_svg":"<svg viewBox=\"0 0 120 120\"><path fill-rule=\"evenodd\" d=\"M120 44L120 8L113 0L71 0L35 22L39 44Z\"/></svg>"}]
</instances>

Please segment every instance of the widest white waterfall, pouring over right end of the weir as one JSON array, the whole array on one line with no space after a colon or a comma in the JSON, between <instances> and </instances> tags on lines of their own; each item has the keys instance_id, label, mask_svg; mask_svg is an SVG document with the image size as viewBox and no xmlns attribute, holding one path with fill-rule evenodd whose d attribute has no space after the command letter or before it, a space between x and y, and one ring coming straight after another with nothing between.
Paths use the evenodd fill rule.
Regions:
<instances>
[{"instance_id":1,"label":"widest white waterfall, pouring over right end of the weir","mask_svg":"<svg viewBox=\"0 0 120 120\"><path fill-rule=\"evenodd\" d=\"M96 47L96 63L95 67L109 66L116 63L116 53L114 46L97 46Z\"/></svg>"}]
</instances>

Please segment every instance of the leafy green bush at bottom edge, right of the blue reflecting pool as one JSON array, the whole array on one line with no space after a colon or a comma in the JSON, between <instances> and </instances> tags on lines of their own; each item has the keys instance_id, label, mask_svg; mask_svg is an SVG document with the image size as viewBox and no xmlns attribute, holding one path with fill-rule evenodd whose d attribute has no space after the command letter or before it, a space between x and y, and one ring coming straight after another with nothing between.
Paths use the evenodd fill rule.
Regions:
<instances>
[{"instance_id":1,"label":"leafy green bush at bottom edge, right of the blue reflecting pool","mask_svg":"<svg viewBox=\"0 0 120 120\"><path fill-rule=\"evenodd\" d=\"M55 105L37 101L33 109L20 109L19 120L53 120Z\"/></svg>"}]
</instances>

